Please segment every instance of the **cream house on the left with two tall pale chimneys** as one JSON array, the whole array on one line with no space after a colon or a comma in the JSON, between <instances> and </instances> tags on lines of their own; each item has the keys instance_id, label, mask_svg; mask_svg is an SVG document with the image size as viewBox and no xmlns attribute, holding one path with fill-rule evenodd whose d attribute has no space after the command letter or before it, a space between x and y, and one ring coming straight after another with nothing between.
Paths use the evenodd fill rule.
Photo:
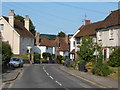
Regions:
<instances>
[{"instance_id":1,"label":"cream house on the left with two tall pale chimneys","mask_svg":"<svg viewBox=\"0 0 120 90\"><path fill-rule=\"evenodd\" d=\"M0 17L0 30L2 41L9 43L13 54L26 54L32 52L34 36L29 31L29 17L25 17L25 25L14 18L14 10L9 17Z\"/></svg>"}]
</instances>

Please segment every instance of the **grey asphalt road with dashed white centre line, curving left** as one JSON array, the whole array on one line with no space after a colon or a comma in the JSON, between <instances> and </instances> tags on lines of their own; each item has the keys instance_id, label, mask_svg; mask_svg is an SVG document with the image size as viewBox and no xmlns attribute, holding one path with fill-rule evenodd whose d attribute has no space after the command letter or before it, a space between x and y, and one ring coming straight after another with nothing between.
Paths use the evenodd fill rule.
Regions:
<instances>
[{"instance_id":1,"label":"grey asphalt road with dashed white centre line, curving left","mask_svg":"<svg viewBox=\"0 0 120 90\"><path fill-rule=\"evenodd\" d=\"M99 88L59 69L58 64L32 64L24 67L9 88ZM11 90L11 89L8 89Z\"/></svg>"}]
</instances>

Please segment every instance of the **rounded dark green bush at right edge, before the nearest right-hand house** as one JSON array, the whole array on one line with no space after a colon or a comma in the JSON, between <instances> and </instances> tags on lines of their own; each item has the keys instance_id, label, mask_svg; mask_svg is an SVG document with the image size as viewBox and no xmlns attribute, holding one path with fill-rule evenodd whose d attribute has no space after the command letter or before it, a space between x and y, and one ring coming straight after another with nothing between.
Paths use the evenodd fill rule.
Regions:
<instances>
[{"instance_id":1,"label":"rounded dark green bush at right edge, before the nearest right-hand house","mask_svg":"<svg viewBox=\"0 0 120 90\"><path fill-rule=\"evenodd\" d=\"M108 64L112 67L120 66L120 48L117 48L109 57Z\"/></svg>"}]
</instances>

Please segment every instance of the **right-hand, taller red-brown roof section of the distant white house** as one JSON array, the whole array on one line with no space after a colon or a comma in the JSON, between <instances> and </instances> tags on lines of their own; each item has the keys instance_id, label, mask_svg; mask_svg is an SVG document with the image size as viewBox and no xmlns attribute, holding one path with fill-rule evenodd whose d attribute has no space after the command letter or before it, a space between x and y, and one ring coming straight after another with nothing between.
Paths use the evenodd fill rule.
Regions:
<instances>
[{"instance_id":1,"label":"right-hand, taller red-brown roof section of the distant white house","mask_svg":"<svg viewBox=\"0 0 120 90\"><path fill-rule=\"evenodd\" d=\"M66 43L65 38L63 37L56 37L56 45L60 45L58 51L69 51L69 45Z\"/></svg>"}]
</instances>

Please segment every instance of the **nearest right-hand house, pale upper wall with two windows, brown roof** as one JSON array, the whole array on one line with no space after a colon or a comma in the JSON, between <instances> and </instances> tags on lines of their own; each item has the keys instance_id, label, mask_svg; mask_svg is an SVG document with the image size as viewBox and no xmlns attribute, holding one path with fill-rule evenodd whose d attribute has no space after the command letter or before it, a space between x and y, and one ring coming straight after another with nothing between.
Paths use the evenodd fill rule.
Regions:
<instances>
[{"instance_id":1,"label":"nearest right-hand house, pale upper wall with two windows, brown roof","mask_svg":"<svg viewBox=\"0 0 120 90\"><path fill-rule=\"evenodd\" d=\"M104 60L114 47L120 47L120 9L111 11L96 29L97 43L102 44Z\"/></svg>"}]
</instances>

